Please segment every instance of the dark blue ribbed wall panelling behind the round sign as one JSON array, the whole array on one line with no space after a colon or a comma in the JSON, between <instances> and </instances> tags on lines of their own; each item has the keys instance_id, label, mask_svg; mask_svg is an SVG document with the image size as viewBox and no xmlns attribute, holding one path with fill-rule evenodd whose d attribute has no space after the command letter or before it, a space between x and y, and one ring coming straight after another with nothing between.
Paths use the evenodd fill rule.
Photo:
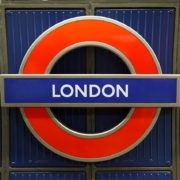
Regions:
<instances>
[{"instance_id":1,"label":"dark blue ribbed wall panelling behind the round sign","mask_svg":"<svg viewBox=\"0 0 180 180\"><path fill-rule=\"evenodd\" d=\"M47 28L57 22L75 16L85 15L79 10L6 10L8 70L18 73L19 66L31 43ZM163 73L172 73L174 9L97 9L96 15L106 16L121 21L140 33L155 51ZM76 58L78 61L73 61ZM103 63L102 63L103 58ZM86 49L75 50L56 65L52 73L85 73ZM128 73L119 59L101 49L96 50L96 73ZM95 110L96 131L109 129L119 123L129 109L104 108ZM63 123L78 131L86 132L86 109L64 109L59 114L53 109ZM18 109L10 109L10 166L13 167L84 167L79 163L57 156L42 146L29 132ZM157 124L147 138L129 153L96 166L171 166L172 164L172 110L163 109ZM11 173L10 179L19 180L63 179L66 173ZM84 173L67 173L71 179L85 179ZM169 172L97 172L101 179L125 180L170 180ZM61 178L62 177L62 178ZM67 178L66 178L67 179Z\"/></svg>"}]
</instances>

